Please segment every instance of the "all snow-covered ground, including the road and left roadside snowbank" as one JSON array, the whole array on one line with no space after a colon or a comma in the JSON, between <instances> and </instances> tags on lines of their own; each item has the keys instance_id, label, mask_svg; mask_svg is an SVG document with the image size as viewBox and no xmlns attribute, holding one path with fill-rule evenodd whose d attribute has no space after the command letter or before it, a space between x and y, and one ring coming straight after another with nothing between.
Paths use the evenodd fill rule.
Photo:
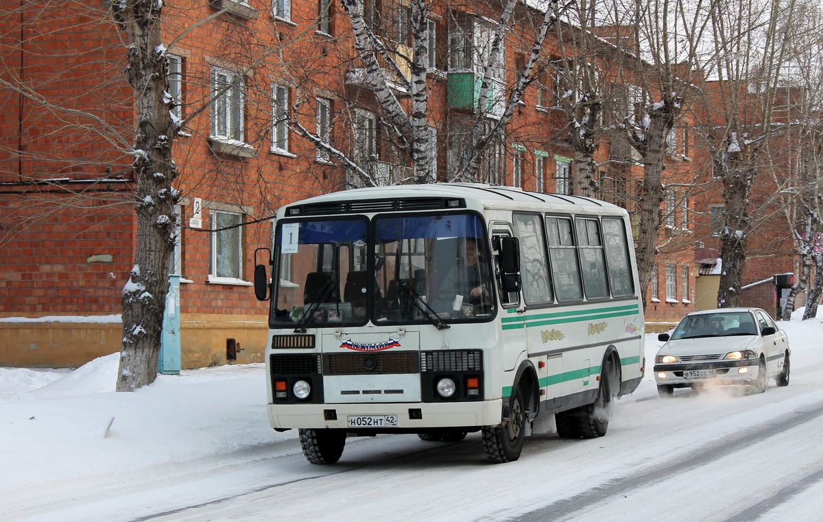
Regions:
<instances>
[{"instance_id":1,"label":"all snow-covered ground, including the road and left roadside snowbank","mask_svg":"<svg viewBox=\"0 0 823 522\"><path fill-rule=\"evenodd\" d=\"M477 434L350 439L337 465L308 464L295 431L268 426L262 364L135 393L114 392L117 354L0 368L0 520L821 520L823 324L800 314L779 323L788 387L660 399L648 335L646 379L606 437L531 437L498 465Z\"/></svg>"}]
</instances>

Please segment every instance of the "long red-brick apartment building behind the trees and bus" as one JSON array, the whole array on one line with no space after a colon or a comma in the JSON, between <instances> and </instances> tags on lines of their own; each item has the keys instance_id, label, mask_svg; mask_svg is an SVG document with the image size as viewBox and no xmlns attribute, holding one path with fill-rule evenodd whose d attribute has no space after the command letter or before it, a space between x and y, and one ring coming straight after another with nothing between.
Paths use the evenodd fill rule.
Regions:
<instances>
[{"instance_id":1,"label":"long red-brick apartment building behind the trees and bus","mask_svg":"<svg viewBox=\"0 0 823 522\"><path fill-rule=\"evenodd\" d=\"M0 86L2 317L119 314L133 265L134 131L124 36L100 6L57 6L0 8L0 76L20 86ZM471 64L457 67L454 42L480 39L498 9L474 2L449 8L436 4L428 27L435 44L428 57L430 144L441 181L449 179L476 89ZM185 0L164 7L170 95L180 100L175 116L184 120L174 148L176 186L184 194L174 257L183 367L262 360L267 303L255 300L249 281L255 250L271 242L270 217L287 201L360 184L279 114L360 157L380 182L407 178L407 158L374 117L377 103L361 81L351 25L340 9L337 2L325 11L304 0L277 0L274 7ZM408 56L400 41L408 27L398 23L406 15L396 14L407 8L398 2L379 11L393 13L382 18L385 34L398 35L387 41ZM507 40L501 87L513 81L528 51L525 26L525 20L516 25ZM553 38L544 45L550 58L557 53ZM551 75L528 87L479 181L574 191L574 152L556 96ZM671 179L683 182L704 169L704 159L691 154L691 124L678 125L667 156ZM642 167L625 144L602 140L601 196L636 213ZM678 191L664 204L666 247L650 293L651 322L677 321L694 308L700 230L692 225L695 199ZM235 224L244 226L227 228ZM121 338L116 321L0 322L0 365L76 366L119 350Z\"/></svg>"}]
</instances>

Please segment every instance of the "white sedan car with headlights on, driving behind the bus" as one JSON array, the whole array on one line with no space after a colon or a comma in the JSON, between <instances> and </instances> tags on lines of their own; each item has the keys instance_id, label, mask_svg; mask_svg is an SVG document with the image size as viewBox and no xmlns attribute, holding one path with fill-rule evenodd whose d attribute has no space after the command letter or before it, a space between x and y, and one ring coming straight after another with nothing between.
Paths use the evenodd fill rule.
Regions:
<instances>
[{"instance_id":1,"label":"white sedan car with headlights on, driving behind the bus","mask_svg":"<svg viewBox=\"0 0 823 522\"><path fill-rule=\"evenodd\" d=\"M788 337L760 308L718 308L681 319L654 358L658 393L709 384L741 384L763 392L774 377L788 386Z\"/></svg>"}]
</instances>

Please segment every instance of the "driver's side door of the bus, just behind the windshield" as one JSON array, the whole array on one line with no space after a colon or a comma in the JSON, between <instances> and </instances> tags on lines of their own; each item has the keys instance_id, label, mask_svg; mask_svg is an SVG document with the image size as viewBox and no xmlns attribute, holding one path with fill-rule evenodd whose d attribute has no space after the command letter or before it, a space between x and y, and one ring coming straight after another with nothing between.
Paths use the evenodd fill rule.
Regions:
<instances>
[{"instance_id":1,"label":"driver's side door of the bus, just behind the windshield","mask_svg":"<svg viewBox=\"0 0 823 522\"><path fill-rule=\"evenodd\" d=\"M518 359L526 352L526 323L524 310L520 306L520 292L504 292L504 274L500 262L501 239L512 237L510 224L500 222L491 224L491 247L495 259L493 268L495 270L497 291L500 294L503 367L506 372L514 370Z\"/></svg>"}]
</instances>

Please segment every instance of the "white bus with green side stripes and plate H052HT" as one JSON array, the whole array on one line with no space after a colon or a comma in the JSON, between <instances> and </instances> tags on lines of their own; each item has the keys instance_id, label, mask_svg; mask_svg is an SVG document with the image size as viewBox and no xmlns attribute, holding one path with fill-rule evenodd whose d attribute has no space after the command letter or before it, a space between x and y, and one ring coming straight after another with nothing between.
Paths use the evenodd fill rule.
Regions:
<instances>
[{"instance_id":1,"label":"white bus with green side stripes and plate H052HT","mask_svg":"<svg viewBox=\"0 0 823 522\"><path fill-rule=\"evenodd\" d=\"M643 376L630 221L609 203L363 188L281 208L273 249L254 274L267 413L314 464L379 433L481 432L490 460L517 460L532 433L602 437Z\"/></svg>"}]
</instances>

